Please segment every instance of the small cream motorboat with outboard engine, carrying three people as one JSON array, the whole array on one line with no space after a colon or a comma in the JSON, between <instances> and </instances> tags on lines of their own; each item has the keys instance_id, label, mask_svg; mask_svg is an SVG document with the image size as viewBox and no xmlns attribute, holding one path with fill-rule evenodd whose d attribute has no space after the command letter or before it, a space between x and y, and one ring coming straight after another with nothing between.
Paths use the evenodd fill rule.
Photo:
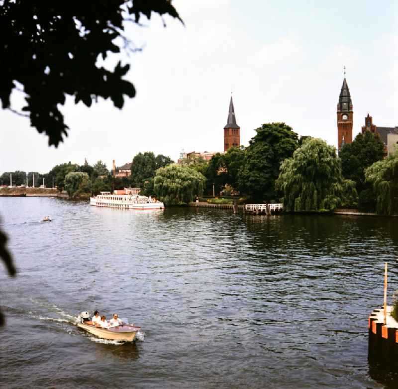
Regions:
<instances>
[{"instance_id":1,"label":"small cream motorboat with outboard engine, carrying three people","mask_svg":"<svg viewBox=\"0 0 398 389\"><path fill-rule=\"evenodd\" d=\"M132 342L137 332L141 329L141 327L125 323L109 328L96 327L90 319L89 312L81 312L76 325L99 338L120 342Z\"/></svg>"}]
</instances>

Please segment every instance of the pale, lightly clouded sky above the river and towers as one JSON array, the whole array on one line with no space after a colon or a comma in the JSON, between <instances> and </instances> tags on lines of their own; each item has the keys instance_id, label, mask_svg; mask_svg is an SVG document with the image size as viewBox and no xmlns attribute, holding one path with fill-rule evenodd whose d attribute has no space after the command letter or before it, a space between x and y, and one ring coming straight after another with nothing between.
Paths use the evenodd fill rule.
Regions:
<instances>
[{"instance_id":1,"label":"pale, lightly clouded sky above the river and towers","mask_svg":"<svg viewBox=\"0 0 398 389\"><path fill-rule=\"evenodd\" d=\"M121 110L73 97L60 109L69 136L58 148L29 120L0 109L0 174L47 173L71 161L112 166L152 151L177 161L185 152L223 151L232 97L247 146L262 123L285 122L299 136L337 145L336 109L343 66L354 111L353 136L365 116L398 126L398 2L175 0L184 21L159 15L126 26L138 53L112 55L131 65L137 95ZM100 65L102 63L99 62ZM14 92L14 109L23 106Z\"/></svg>"}]
</instances>

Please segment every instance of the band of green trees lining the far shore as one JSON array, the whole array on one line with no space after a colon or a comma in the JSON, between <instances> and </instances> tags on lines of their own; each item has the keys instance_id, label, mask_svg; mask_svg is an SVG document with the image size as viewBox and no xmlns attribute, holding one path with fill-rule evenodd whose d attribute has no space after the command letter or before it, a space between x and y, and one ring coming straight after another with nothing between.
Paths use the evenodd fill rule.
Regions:
<instances>
[{"instance_id":1,"label":"band of green trees lining the far shore","mask_svg":"<svg viewBox=\"0 0 398 389\"><path fill-rule=\"evenodd\" d=\"M190 153L194 156L187 154L176 164L165 155L144 152L118 172L102 161L92 166L86 160L57 165L43 175L5 172L0 185L37 187L43 181L43 187L56 187L74 199L133 187L166 206L201 198L227 204L237 197L238 204L283 204L289 213L343 208L351 209L348 214L398 214L398 150L387 155L379 135L360 133L337 152L322 139L299 138L285 123L262 124L255 132L249 146L229 148L209 160Z\"/></svg>"}]
</instances>

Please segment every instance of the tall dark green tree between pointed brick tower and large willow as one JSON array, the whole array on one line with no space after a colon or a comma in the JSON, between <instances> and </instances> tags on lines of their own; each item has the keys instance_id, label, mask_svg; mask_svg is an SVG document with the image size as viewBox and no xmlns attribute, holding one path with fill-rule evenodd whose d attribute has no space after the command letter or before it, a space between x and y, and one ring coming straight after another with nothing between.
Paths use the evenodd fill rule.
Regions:
<instances>
[{"instance_id":1,"label":"tall dark green tree between pointed brick tower and large willow","mask_svg":"<svg viewBox=\"0 0 398 389\"><path fill-rule=\"evenodd\" d=\"M275 180L281 162L298 147L298 135L285 123L263 124L255 130L238 172L239 189L254 200L276 199Z\"/></svg>"}]
</instances>

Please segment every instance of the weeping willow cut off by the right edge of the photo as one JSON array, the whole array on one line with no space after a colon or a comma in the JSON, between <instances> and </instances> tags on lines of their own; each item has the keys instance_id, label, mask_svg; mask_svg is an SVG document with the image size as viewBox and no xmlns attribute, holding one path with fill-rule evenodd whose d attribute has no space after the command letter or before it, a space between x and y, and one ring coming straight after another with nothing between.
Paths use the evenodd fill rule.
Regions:
<instances>
[{"instance_id":1,"label":"weeping willow cut off by the right edge of the photo","mask_svg":"<svg viewBox=\"0 0 398 389\"><path fill-rule=\"evenodd\" d=\"M376 212L398 214L398 150L367 168L365 179L376 194Z\"/></svg>"}]
</instances>

